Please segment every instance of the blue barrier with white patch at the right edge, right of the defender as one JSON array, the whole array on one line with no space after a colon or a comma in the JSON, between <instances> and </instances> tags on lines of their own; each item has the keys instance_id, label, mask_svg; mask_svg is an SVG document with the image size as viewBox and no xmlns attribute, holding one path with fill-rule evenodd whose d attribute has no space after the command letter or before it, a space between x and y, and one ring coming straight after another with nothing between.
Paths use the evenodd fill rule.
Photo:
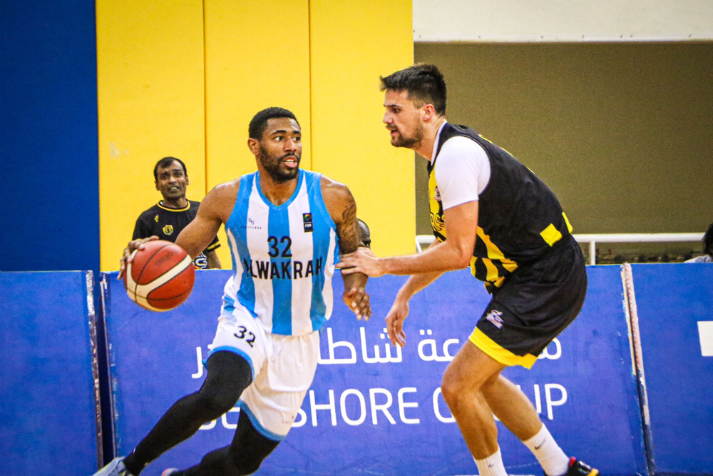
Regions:
<instances>
[{"instance_id":1,"label":"blue barrier with white patch at the right edge, right of the defender","mask_svg":"<svg viewBox=\"0 0 713 476\"><path fill-rule=\"evenodd\" d=\"M631 265L656 475L713 474L713 265Z\"/></svg>"}]
</instances>

